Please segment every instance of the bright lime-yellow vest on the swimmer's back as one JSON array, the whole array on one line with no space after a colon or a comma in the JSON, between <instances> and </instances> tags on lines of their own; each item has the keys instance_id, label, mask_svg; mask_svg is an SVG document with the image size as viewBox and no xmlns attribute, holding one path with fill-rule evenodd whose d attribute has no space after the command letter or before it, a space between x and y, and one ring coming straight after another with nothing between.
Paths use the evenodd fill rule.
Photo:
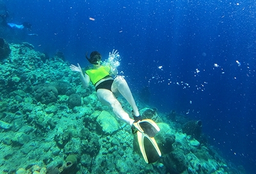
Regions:
<instances>
[{"instance_id":1,"label":"bright lime-yellow vest on the swimmer's back","mask_svg":"<svg viewBox=\"0 0 256 174\"><path fill-rule=\"evenodd\" d=\"M86 74L89 75L93 85L95 85L98 81L110 75L110 69L110 66L101 66L98 69L87 70Z\"/></svg>"}]
</instances>

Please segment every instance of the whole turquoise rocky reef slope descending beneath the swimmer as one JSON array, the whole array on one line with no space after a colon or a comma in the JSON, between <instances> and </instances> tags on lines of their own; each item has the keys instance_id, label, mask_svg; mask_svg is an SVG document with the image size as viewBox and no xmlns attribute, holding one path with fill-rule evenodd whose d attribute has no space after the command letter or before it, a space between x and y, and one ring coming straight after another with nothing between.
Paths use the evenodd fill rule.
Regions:
<instances>
[{"instance_id":1,"label":"whole turquoise rocky reef slope descending beneath the swimmer","mask_svg":"<svg viewBox=\"0 0 256 174\"><path fill-rule=\"evenodd\" d=\"M93 85L82 89L61 53L49 58L26 42L9 46L0 61L0 173L243 173L184 134L172 122L176 112L165 122L139 103L161 129L155 139L162 158L145 164L130 125L101 105Z\"/></svg>"}]
</instances>

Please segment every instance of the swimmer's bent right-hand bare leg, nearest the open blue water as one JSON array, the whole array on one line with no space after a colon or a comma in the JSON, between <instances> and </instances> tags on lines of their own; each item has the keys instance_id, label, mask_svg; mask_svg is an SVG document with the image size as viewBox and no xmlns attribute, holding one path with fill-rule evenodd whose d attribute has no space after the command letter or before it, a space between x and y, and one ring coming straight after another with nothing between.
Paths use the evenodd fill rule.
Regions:
<instances>
[{"instance_id":1,"label":"swimmer's bent right-hand bare leg, nearest the open blue water","mask_svg":"<svg viewBox=\"0 0 256 174\"><path fill-rule=\"evenodd\" d=\"M114 79L114 82L111 86L111 91L113 93L120 93L132 106L134 115L137 117L140 115L138 107L136 106L136 103L134 101L133 95L131 93L131 90L127 84L127 82L124 80L122 76L117 76Z\"/></svg>"}]
</instances>

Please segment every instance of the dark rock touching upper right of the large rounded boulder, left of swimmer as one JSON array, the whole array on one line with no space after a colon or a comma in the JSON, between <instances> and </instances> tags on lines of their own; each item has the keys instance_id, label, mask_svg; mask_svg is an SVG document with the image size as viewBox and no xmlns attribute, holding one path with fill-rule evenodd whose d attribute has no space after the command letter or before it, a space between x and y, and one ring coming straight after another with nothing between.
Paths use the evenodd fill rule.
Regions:
<instances>
[{"instance_id":1,"label":"dark rock touching upper right of the large rounded boulder, left of swimmer","mask_svg":"<svg viewBox=\"0 0 256 174\"><path fill-rule=\"evenodd\" d=\"M66 81L57 80L51 82L51 84L58 90L58 95L70 96L71 94L76 93L73 86Z\"/></svg>"}]
</instances>

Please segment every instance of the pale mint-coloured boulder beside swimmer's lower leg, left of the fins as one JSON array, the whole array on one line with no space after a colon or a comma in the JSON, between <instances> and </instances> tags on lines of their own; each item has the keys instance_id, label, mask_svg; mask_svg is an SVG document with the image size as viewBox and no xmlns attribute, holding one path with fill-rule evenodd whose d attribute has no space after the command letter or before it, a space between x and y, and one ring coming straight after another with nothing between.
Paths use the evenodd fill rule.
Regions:
<instances>
[{"instance_id":1,"label":"pale mint-coloured boulder beside swimmer's lower leg, left of the fins","mask_svg":"<svg viewBox=\"0 0 256 174\"><path fill-rule=\"evenodd\" d=\"M102 133L112 134L119 129L119 123L107 111L102 111L97 118L97 122L102 127Z\"/></svg>"}]
</instances>

